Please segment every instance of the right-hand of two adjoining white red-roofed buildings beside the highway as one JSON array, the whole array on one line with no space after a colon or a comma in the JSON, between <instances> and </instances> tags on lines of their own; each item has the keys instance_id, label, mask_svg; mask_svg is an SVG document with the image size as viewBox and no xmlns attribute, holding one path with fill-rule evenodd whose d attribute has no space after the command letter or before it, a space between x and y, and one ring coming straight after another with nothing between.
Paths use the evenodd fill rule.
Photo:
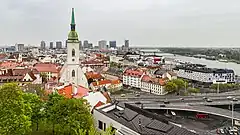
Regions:
<instances>
[{"instance_id":1,"label":"right-hand of two adjoining white red-roofed buildings beside the highway","mask_svg":"<svg viewBox=\"0 0 240 135\"><path fill-rule=\"evenodd\" d=\"M149 75L144 75L141 79L141 90L156 95L165 95L164 86L167 79L152 78Z\"/></svg>"}]
</instances>

